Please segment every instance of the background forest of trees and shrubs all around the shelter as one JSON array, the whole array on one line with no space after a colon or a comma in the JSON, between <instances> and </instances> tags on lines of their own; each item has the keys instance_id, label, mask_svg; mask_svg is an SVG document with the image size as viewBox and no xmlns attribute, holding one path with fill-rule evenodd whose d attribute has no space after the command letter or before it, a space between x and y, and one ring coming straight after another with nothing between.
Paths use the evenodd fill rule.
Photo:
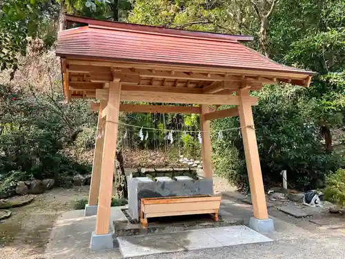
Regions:
<instances>
[{"instance_id":1,"label":"background forest of trees and shrubs all around the shelter","mask_svg":"<svg viewBox=\"0 0 345 259\"><path fill-rule=\"evenodd\" d=\"M343 0L0 0L0 192L16 180L55 178L63 186L65 178L90 172L97 115L86 100L64 102L54 51L64 12L253 35L248 46L262 55L318 73L309 88L286 83L252 93L259 96L253 112L266 186L279 184L286 169L296 189L322 188L327 175L345 168ZM121 121L139 126L121 128L122 148L155 152L145 166L174 164L179 153L199 157L197 133L176 135L173 144L164 133L138 137L141 126L197 132L197 115L122 114ZM241 134L224 131L218 138L219 130L238 126L237 117L211 124L213 162L216 173L245 187ZM157 163L152 156L159 152L167 158ZM137 153L124 155L128 162ZM345 178L345 171L338 174Z\"/></svg>"}]
</instances>

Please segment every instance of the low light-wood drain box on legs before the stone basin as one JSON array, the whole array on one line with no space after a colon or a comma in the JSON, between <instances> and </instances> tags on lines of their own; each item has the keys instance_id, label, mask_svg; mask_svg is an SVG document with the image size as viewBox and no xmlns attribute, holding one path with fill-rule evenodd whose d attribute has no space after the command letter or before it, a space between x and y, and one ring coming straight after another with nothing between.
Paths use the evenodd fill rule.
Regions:
<instances>
[{"instance_id":1,"label":"low light-wood drain box on legs before the stone basin","mask_svg":"<svg viewBox=\"0 0 345 259\"><path fill-rule=\"evenodd\" d=\"M143 227L148 227L148 218L206 213L218 221L220 201L221 197L215 195L142 198L140 222Z\"/></svg>"}]
</instances>

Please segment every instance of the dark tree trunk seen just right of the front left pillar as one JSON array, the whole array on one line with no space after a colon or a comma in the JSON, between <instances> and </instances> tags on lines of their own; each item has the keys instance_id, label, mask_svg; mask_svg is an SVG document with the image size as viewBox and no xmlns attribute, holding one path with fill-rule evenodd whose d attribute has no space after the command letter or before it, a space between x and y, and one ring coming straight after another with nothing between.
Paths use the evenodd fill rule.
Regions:
<instances>
[{"instance_id":1,"label":"dark tree trunk seen just right of the front left pillar","mask_svg":"<svg viewBox=\"0 0 345 259\"><path fill-rule=\"evenodd\" d=\"M115 169L115 189L117 198L128 199L127 178L124 168L124 157L122 151L116 151L116 160L118 166Z\"/></svg>"}]
</instances>

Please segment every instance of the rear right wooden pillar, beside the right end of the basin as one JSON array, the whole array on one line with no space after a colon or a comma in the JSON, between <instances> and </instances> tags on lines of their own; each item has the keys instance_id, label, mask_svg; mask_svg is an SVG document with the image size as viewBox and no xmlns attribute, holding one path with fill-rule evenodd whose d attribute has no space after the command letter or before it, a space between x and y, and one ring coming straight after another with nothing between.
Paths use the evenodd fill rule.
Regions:
<instances>
[{"instance_id":1,"label":"rear right wooden pillar, beside the right end of the basin","mask_svg":"<svg viewBox=\"0 0 345 259\"><path fill-rule=\"evenodd\" d=\"M201 157L202 165L204 169L204 177L213 177L213 165L212 165L212 146L210 138L210 121L206 121L204 118L205 113L210 112L208 104L201 105Z\"/></svg>"}]
</instances>

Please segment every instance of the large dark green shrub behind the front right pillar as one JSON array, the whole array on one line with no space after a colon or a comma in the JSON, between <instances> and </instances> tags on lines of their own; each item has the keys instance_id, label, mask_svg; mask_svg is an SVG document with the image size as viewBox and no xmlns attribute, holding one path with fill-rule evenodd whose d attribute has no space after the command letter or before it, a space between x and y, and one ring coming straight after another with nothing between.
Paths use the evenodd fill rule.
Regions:
<instances>
[{"instance_id":1,"label":"large dark green shrub behind the front right pillar","mask_svg":"<svg viewBox=\"0 0 345 259\"><path fill-rule=\"evenodd\" d=\"M317 179L344 165L341 154L324 151L315 119L317 102L308 99L304 88L266 86L258 97L259 105L253 113L266 184L281 182L280 172L285 169L291 184L308 189ZM217 128L239 127L239 122L237 118L227 118L212 125L217 132ZM246 170L239 130L224 131L224 140L213 143L216 172L243 185Z\"/></svg>"}]
</instances>

